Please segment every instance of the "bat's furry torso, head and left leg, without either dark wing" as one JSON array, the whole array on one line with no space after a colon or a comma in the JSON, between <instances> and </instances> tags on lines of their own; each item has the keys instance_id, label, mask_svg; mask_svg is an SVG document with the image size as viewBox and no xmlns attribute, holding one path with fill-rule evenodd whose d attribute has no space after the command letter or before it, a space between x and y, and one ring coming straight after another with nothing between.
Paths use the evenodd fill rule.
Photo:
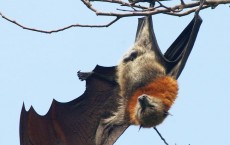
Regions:
<instances>
[{"instance_id":1,"label":"bat's furry torso, head and left leg, without either dark wing","mask_svg":"<svg viewBox=\"0 0 230 145\"><path fill-rule=\"evenodd\" d=\"M147 17L144 21L136 43L117 66L120 106L114 116L106 119L108 123L154 127L167 117L178 94L176 77L168 75L158 58L161 52L152 19Z\"/></svg>"}]
</instances>

